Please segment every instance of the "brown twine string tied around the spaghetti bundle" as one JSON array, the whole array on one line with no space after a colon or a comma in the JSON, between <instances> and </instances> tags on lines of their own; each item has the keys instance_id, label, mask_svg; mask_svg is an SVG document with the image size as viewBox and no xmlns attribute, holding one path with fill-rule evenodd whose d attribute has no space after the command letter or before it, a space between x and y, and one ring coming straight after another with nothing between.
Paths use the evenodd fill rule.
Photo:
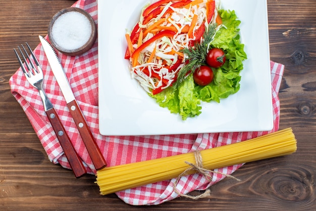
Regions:
<instances>
[{"instance_id":1,"label":"brown twine string tied around the spaghetti bundle","mask_svg":"<svg viewBox=\"0 0 316 211\"><path fill-rule=\"evenodd\" d=\"M235 179L237 181L241 181L241 180L239 180L239 179L237 179L237 178L235 178L235 177L233 177L231 175L227 175L227 174L224 174L224 173L220 173L220 172L216 172L216 171L212 171L212 170L207 170L206 168L203 168L202 155L201 155L199 150L194 151L194 158L195 158L195 164L190 163L188 161L184 161L186 164L190 165L191 167L187 168L184 172L182 172L178 176L178 178L176 179L176 181L173 184L174 191L180 196L183 196L183 197L186 197L186 198L190 198L190 199L194 199L194 200L210 196L210 190L209 189L205 190L204 193L201 193L201 194L199 194L197 196L190 196L188 194L182 194L182 193L180 193L177 190L176 187L177 187L177 184L178 184L179 180L181 179L181 177L186 175L187 172L192 171L192 170L202 174L203 177L205 177L206 180L209 181L209 182L212 181L212 176L210 176L209 173L217 173L217 174L224 175L226 177L230 177L230 178Z\"/></svg>"}]
</instances>

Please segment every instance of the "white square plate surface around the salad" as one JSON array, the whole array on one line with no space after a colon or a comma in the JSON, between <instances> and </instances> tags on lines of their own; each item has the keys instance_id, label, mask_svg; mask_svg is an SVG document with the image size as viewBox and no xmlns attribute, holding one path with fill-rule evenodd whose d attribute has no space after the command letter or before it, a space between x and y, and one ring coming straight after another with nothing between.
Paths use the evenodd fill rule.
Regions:
<instances>
[{"instance_id":1,"label":"white square plate surface around the salad","mask_svg":"<svg viewBox=\"0 0 316 211\"><path fill-rule=\"evenodd\" d=\"M240 90L221 103L201 103L202 113L182 120L150 98L131 78L126 29L148 0L98 1L99 131L101 135L164 135L268 131L273 128L267 0L222 0L235 10L248 59Z\"/></svg>"}]
</instances>

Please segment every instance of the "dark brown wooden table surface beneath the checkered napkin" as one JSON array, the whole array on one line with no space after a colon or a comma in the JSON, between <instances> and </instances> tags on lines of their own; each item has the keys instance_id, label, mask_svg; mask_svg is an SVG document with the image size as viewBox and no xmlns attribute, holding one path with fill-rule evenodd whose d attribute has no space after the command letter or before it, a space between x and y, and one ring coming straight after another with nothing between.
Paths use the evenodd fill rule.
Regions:
<instances>
[{"instance_id":1,"label":"dark brown wooden table surface beneath the checkered napkin","mask_svg":"<svg viewBox=\"0 0 316 211\"><path fill-rule=\"evenodd\" d=\"M225 1L225 0L222 0ZM256 0L254 0L256 1ZM75 179L52 164L18 102L9 78L19 68L13 48L34 49L51 17L70 0L0 4L0 210L316 210L316 1L268 0L271 60L286 66L280 129L292 127L296 153L245 164L210 187L210 197L131 206L99 195L95 176Z\"/></svg>"}]
</instances>

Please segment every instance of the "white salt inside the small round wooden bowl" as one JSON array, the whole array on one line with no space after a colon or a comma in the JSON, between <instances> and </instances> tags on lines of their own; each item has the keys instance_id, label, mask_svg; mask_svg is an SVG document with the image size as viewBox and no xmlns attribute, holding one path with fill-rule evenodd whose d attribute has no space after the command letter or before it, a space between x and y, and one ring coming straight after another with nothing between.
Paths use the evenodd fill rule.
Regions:
<instances>
[{"instance_id":1,"label":"white salt inside the small round wooden bowl","mask_svg":"<svg viewBox=\"0 0 316 211\"><path fill-rule=\"evenodd\" d=\"M75 50L90 38L92 26L83 14L70 11L59 16L52 25L51 36L62 49Z\"/></svg>"}]
</instances>

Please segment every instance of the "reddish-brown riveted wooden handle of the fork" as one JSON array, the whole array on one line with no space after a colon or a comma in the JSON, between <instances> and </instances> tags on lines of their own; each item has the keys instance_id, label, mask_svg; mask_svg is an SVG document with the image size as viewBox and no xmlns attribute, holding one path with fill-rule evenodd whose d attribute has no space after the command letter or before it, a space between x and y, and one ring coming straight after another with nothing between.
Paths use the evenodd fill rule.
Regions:
<instances>
[{"instance_id":1,"label":"reddish-brown riveted wooden handle of the fork","mask_svg":"<svg viewBox=\"0 0 316 211\"><path fill-rule=\"evenodd\" d=\"M64 153L68 159L73 173L75 174L76 178L82 177L87 173L86 168L84 167L81 158L74 149L74 146L72 145L70 138L66 133L66 130L60 118L57 115L56 110L54 108L49 109L46 111L46 114L64 150Z\"/></svg>"}]
</instances>

